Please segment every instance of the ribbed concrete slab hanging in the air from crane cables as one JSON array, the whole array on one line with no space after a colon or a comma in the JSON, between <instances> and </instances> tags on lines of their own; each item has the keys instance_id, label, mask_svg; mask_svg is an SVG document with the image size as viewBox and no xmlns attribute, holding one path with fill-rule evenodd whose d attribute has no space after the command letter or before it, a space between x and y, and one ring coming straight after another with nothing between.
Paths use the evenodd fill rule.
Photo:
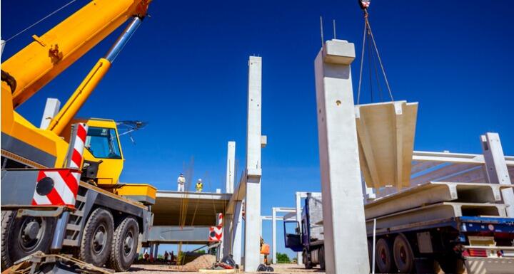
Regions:
<instances>
[{"instance_id":1,"label":"ribbed concrete slab hanging in the air from crane cables","mask_svg":"<svg viewBox=\"0 0 514 274\"><path fill-rule=\"evenodd\" d=\"M418 103L356 105L359 159L366 184L408 187Z\"/></svg>"}]
</instances>

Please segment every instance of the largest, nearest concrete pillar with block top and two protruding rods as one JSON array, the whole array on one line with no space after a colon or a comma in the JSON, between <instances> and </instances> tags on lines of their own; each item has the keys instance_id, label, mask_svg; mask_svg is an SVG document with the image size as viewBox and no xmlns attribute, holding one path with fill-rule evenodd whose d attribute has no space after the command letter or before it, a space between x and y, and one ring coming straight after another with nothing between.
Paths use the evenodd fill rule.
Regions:
<instances>
[{"instance_id":1,"label":"largest, nearest concrete pillar with block top and two protruding rods","mask_svg":"<svg viewBox=\"0 0 514 274\"><path fill-rule=\"evenodd\" d=\"M326 273L368 274L355 107L353 43L327 41L315 61Z\"/></svg>"}]
</instances>

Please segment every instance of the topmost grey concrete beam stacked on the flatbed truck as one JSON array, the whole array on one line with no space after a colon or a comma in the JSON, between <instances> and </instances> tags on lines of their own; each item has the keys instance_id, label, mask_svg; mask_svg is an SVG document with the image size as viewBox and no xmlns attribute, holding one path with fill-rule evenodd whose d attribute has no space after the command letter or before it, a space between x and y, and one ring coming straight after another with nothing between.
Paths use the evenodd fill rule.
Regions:
<instances>
[{"instance_id":1,"label":"topmost grey concrete beam stacked on the flatbed truck","mask_svg":"<svg viewBox=\"0 0 514 274\"><path fill-rule=\"evenodd\" d=\"M512 187L499 184L430 181L375 199L366 204L364 209L366 219L370 219L442 201L494 204L501 201L500 189Z\"/></svg>"}]
</instances>

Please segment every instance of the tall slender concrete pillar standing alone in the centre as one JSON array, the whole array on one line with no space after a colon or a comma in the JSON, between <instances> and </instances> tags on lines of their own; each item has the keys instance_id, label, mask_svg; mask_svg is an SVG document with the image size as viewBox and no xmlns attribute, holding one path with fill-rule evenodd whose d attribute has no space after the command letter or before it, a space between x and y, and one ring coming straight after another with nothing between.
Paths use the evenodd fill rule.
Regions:
<instances>
[{"instance_id":1,"label":"tall slender concrete pillar standing alone in the centre","mask_svg":"<svg viewBox=\"0 0 514 274\"><path fill-rule=\"evenodd\" d=\"M246 131L246 199L244 270L259 265L261 222L261 57L248 60L248 124Z\"/></svg>"}]
</instances>

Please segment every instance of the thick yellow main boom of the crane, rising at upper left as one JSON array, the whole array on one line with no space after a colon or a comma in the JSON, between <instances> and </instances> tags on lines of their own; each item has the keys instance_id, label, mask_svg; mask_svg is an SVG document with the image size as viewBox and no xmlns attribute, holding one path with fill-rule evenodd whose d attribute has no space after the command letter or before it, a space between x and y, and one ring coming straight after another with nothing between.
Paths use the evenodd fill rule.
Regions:
<instances>
[{"instance_id":1,"label":"thick yellow main boom of the crane, rising at upper left","mask_svg":"<svg viewBox=\"0 0 514 274\"><path fill-rule=\"evenodd\" d=\"M9 75L13 107L28 100L59 73L132 16L146 16L151 0L94 0L1 64ZM14 85L12 84L14 80Z\"/></svg>"}]
</instances>

